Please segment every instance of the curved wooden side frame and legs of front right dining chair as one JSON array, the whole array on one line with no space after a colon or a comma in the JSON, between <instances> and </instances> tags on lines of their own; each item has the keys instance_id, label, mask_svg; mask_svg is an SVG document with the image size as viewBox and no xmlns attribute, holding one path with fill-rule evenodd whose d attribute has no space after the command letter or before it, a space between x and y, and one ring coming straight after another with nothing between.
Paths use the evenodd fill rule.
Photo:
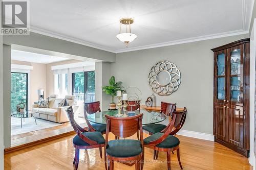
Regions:
<instances>
[{"instance_id":1,"label":"curved wooden side frame and legs of front right dining chair","mask_svg":"<svg viewBox=\"0 0 256 170\"><path fill-rule=\"evenodd\" d=\"M176 119L176 114L173 115L172 122L166 127L166 131L163 134L163 136L161 136L160 138L153 140L147 144L144 144L144 147L146 147L146 148L150 148L155 151L162 151L162 152L167 153L167 168L168 168L168 170L170 170L170 152L173 152L173 151L177 151L179 165L180 165L180 168L182 169L182 165L181 165L181 161L180 161L180 147L178 145L177 147L174 147L174 148L158 148L158 147L156 147L156 145L161 143L162 141L164 141L164 139L167 138L167 136L170 134L170 132L172 132L172 130L174 128L175 119Z\"/></svg>"}]
</instances>

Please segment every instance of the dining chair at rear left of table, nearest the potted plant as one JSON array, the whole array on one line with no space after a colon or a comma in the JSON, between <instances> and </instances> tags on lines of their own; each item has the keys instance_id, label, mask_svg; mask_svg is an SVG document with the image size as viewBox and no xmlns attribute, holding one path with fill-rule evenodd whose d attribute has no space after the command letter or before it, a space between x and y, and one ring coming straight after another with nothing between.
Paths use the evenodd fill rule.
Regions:
<instances>
[{"instance_id":1,"label":"dining chair at rear left of table, nearest the potted plant","mask_svg":"<svg viewBox=\"0 0 256 170\"><path fill-rule=\"evenodd\" d=\"M91 124L87 118L87 114L94 114L96 112L101 112L100 110L100 102L90 102L90 103L84 103L83 105L83 114L84 118L86 119L86 123L88 125L88 131L90 132L100 132L102 134L105 134L106 132L106 125L102 124Z\"/></svg>"}]
</instances>

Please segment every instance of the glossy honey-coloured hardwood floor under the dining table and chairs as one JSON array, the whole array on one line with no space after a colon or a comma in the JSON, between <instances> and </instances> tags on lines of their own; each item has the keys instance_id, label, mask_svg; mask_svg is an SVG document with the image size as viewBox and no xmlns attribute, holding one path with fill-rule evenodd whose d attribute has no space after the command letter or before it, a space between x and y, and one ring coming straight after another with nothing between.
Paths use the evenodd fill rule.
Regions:
<instances>
[{"instance_id":1,"label":"glossy honey-coloured hardwood floor under the dining table and chairs","mask_svg":"<svg viewBox=\"0 0 256 170\"><path fill-rule=\"evenodd\" d=\"M75 150L72 146L74 135L38 144L24 150L5 154L5 169L73 169ZM144 134L147 136L147 134ZM183 169L250 169L248 159L231 151L223 145L211 141L178 136L180 139L180 155ZM111 135L114 139L114 136ZM132 138L136 139L136 136ZM144 169L167 169L166 153L159 152L158 160L153 160L153 150L145 148ZM104 169L99 150L80 151L78 169ZM135 169L115 163L115 169ZM176 153L172 155L172 169L180 169Z\"/></svg>"}]
</instances>

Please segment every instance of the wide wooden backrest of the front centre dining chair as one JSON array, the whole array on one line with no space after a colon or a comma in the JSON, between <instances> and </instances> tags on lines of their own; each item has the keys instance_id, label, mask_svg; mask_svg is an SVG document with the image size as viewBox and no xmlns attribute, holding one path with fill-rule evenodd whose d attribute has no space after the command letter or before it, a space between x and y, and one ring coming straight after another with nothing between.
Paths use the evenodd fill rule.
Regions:
<instances>
[{"instance_id":1,"label":"wide wooden backrest of the front centre dining chair","mask_svg":"<svg viewBox=\"0 0 256 170\"><path fill-rule=\"evenodd\" d=\"M137 133L140 129L139 118L142 119L143 114L132 117L114 117L105 115L106 120L110 119L109 132L118 137L130 137Z\"/></svg>"}]
</instances>

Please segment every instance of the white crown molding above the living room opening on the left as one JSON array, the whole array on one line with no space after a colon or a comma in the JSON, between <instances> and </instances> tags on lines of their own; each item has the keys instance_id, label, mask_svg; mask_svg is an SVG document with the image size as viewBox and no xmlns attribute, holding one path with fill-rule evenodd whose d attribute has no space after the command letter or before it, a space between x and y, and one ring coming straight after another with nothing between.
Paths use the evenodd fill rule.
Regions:
<instances>
[{"instance_id":1,"label":"white crown molding above the living room opening on the left","mask_svg":"<svg viewBox=\"0 0 256 170\"><path fill-rule=\"evenodd\" d=\"M66 41L70 41L70 42L74 42L74 43L78 43L78 44L81 44L81 45L90 46L90 47L97 48L99 50L103 50L103 51L107 51L107 52L111 52L111 53L115 53L114 50L111 50L110 48L105 47L105 46L101 46L101 45L94 44L94 43L91 43L91 42L83 41L83 40L73 38L73 37L70 37L70 36L54 33L54 32L47 31L47 30L44 30L44 29L40 29L40 28L33 27L33 26L30 26L30 32L38 33L38 34L42 34L42 35L46 35L46 36L49 36L49 37L54 37L54 38L58 38L58 39L62 39L62 40L66 40Z\"/></svg>"}]
</instances>

